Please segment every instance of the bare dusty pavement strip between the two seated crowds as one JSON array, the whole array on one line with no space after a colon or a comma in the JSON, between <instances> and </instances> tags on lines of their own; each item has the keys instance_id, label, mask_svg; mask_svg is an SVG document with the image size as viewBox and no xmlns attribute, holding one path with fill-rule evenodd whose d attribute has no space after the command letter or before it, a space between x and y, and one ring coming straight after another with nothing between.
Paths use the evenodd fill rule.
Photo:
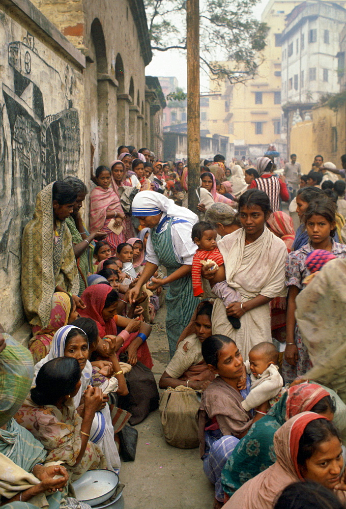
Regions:
<instances>
[{"instance_id":1,"label":"bare dusty pavement strip between the two seated crowds","mask_svg":"<svg viewBox=\"0 0 346 509\"><path fill-rule=\"evenodd\" d=\"M148 340L157 382L169 361L165 315L163 306ZM168 445L158 410L135 428L136 459L122 463L120 471L120 480L126 485L125 509L211 509L214 487L203 472L198 448L178 449Z\"/></svg>"}]
</instances>

